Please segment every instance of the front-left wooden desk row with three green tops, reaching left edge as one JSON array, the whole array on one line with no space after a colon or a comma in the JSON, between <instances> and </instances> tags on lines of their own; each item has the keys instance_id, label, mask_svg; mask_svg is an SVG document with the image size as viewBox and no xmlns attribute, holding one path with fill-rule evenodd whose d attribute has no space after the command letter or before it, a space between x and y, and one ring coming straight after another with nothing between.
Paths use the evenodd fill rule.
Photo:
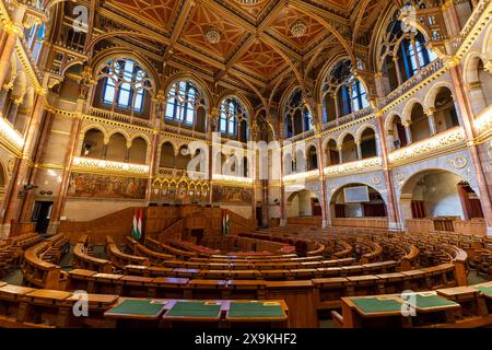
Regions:
<instances>
[{"instance_id":1,"label":"front-left wooden desk row with three green tops, reaching left edge","mask_svg":"<svg viewBox=\"0 0 492 350\"><path fill-rule=\"evenodd\" d=\"M86 314L79 304L86 301ZM77 313L79 312L79 314ZM288 327L283 300L148 300L112 294L81 294L0 282L0 327Z\"/></svg>"}]
</instances>

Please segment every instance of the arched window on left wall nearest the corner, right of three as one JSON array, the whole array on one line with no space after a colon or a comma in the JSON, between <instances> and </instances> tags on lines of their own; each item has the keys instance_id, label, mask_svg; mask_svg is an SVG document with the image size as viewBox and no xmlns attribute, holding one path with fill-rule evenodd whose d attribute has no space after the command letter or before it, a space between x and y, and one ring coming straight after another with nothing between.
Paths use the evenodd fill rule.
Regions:
<instances>
[{"instance_id":1,"label":"arched window on left wall nearest the corner, right of three","mask_svg":"<svg viewBox=\"0 0 492 350\"><path fill-rule=\"evenodd\" d=\"M223 136L246 142L249 136L247 118L243 104L235 97L227 97L221 103L219 131Z\"/></svg>"}]
</instances>

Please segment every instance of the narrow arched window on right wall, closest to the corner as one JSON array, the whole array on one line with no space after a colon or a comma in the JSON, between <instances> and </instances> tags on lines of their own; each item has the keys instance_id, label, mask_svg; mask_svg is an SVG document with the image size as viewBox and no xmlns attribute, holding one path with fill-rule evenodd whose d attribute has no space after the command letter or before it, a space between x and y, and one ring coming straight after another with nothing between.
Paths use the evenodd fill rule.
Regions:
<instances>
[{"instance_id":1,"label":"narrow arched window on right wall, closest to the corner","mask_svg":"<svg viewBox=\"0 0 492 350\"><path fill-rule=\"evenodd\" d=\"M313 120L309 109L303 103L301 88L292 92L291 98L285 105L284 116L286 138L292 138L313 129Z\"/></svg>"}]
</instances>

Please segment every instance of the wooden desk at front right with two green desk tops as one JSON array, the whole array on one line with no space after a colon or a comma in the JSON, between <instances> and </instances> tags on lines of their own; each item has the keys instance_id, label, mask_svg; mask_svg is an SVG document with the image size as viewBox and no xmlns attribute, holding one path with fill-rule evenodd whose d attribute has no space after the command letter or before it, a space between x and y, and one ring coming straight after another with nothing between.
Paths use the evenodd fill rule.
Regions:
<instances>
[{"instance_id":1,"label":"wooden desk at front right with two green desk tops","mask_svg":"<svg viewBox=\"0 0 492 350\"><path fill-rule=\"evenodd\" d=\"M420 293L341 299L339 328L475 328L492 325L492 282Z\"/></svg>"}]
</instances>

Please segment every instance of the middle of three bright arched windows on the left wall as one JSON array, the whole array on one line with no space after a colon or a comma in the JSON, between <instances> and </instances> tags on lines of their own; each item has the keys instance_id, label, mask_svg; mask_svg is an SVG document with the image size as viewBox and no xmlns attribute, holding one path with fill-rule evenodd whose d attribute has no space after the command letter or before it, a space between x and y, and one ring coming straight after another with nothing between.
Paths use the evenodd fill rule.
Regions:
<instances>
[{"instance_id":1,"label":"middle of three bright arched windows on the left wall","mask_svg":"<svg viewBox=\"0 0 492 350\"><path fill-rule=\"evenodd\" d=\"M165 119L192 126L198 119L199 108L203 106L204 98L197 86L190 81L178 81L167 94Z\"/></svg>"}]
</instances>

